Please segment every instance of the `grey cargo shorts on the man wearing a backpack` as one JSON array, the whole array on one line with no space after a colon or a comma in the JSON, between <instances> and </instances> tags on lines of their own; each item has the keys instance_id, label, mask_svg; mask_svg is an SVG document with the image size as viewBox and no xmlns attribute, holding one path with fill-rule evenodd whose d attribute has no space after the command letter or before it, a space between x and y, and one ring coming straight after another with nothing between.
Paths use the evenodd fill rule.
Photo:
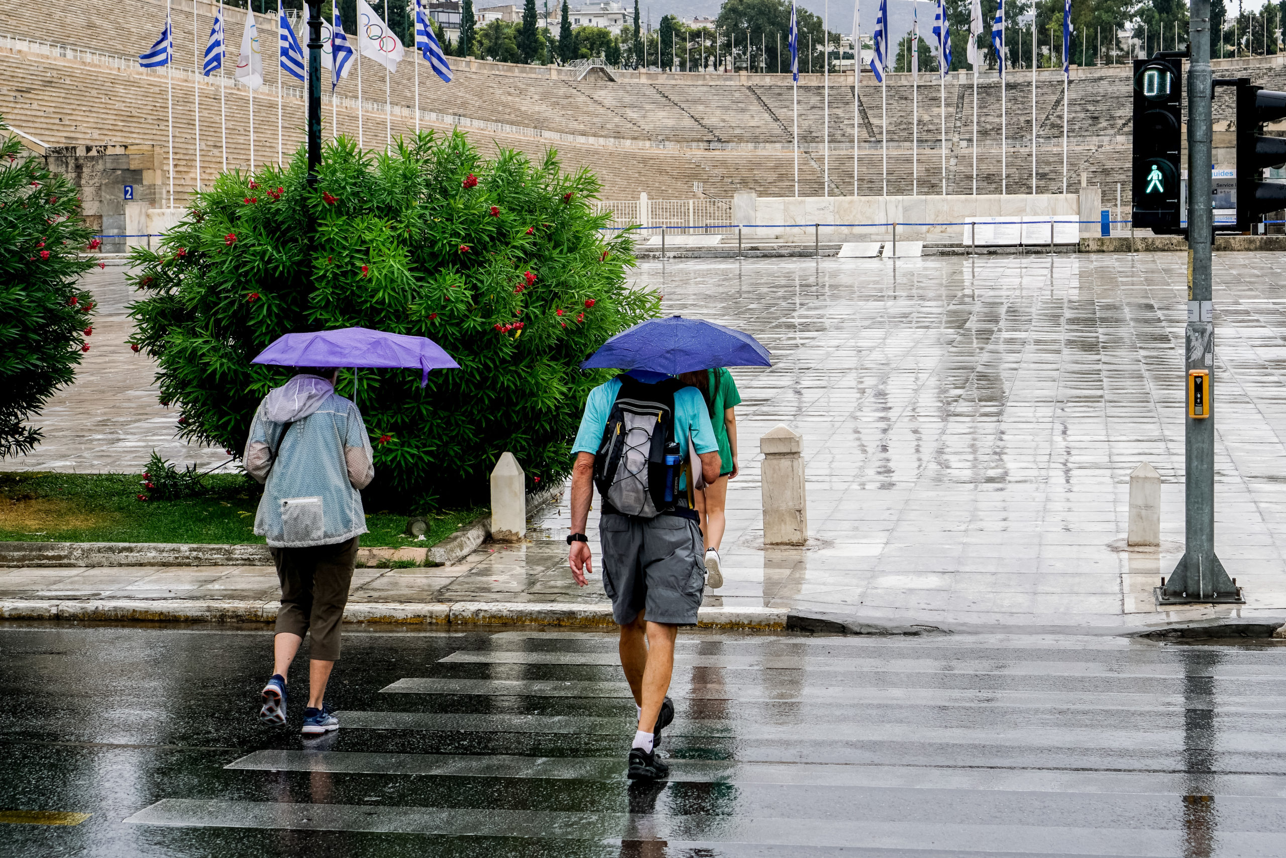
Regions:
<instances>
[{"instance_id":1,"label":"grey cargo shorts on the man wearing a backpack","mask_svg":"<svg viewBox=\"0 0 1286 858\"><path fill-rule=\"evenodd\" d=\"M705 542L697 522L679 516L603 513L598 533L603 589L619 625L629 625L643 610L652 623L697 624L706 587Z\"/></svg>"}]
</instances>

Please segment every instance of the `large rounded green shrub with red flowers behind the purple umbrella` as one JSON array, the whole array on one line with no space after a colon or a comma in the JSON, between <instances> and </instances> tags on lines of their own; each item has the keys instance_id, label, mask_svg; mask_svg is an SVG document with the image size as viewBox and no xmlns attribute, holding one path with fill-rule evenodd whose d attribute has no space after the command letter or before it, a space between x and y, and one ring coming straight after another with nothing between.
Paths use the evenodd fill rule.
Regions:
<instances>
[{"instance_id":1,"label":"large rounded green shrub with red flowers behind the purple umbrella","mask_svg":"<svg viewBox=\"0 0 1286 858\"><path fill-rule=\"evenodd\" d=\"M315 190L302 151L284 171L225 174L157 252L134 252L147 296L131 307L135 342L159 364L179 435L240 450L288 372L249 361L282 334L360 325L430 337L460 369L435 370L426 388L415 369L359 373L376 449L368 494L460 507L486 495L504 450L529 488L548 485L570 468L585 396L611 374L577 364L660 311L655 293L626 286L630 237L598 232L598 189L552 152L484 161L459 134L378 156L341 138ZM343 373L340 392L354 387Z\"/></svg>"}]
</instances>

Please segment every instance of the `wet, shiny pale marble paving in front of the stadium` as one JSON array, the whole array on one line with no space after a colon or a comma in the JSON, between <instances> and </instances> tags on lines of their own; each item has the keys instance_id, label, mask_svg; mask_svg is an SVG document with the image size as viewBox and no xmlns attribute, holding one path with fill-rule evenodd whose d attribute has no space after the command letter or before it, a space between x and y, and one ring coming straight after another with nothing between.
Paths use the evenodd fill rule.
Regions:
<instances>
[{"instance_id":1,"label":"wet, shiny pale marble paving in front of the stadium","mask_svg":"<svg viewBox=\"0 0 1286 858\"><path fill-rule=\"evenodd\" d=\"M638 283L667 311L750 331L774 355L733 370L742 473L728 493L727 584L707 603L953 628L1286 615L1286 255L1219 253L1214 275L1217 547L1249 603L1159 612L1152 588L1183 539L1182 253L643 262ZM95 408L159 437L163 409L123 386L139 372ZM761 544L757 439L778 423L804 436L802 549ZM46 431L50 446L75 446L86 428ZM117 461L120 443L95 449ZM1163 477L1157 552L1123 551L1139 462ZM489 545L458 578L410 592L602 598L597 576L588 593L568 584L566 525L563 506L527 543ZM396 578L386 584L406 592Z\"/></svg>"}]
</instances>

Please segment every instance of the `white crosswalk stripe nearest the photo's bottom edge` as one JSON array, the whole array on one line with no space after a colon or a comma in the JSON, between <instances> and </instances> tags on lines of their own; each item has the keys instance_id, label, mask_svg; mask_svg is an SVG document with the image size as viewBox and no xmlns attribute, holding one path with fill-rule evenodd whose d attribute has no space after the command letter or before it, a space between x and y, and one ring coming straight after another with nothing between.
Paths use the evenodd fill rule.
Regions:
<instances>
[{"instance_id":1,"label":"white crosswalk stripe nearest the photo's bottom edge","mask_svg":"<svg viewBox=\"0 0 1286 858\"><path fill-rule=\"evenodd\" d=\"M410 808L163 799L129 819L134 825L368 831L441 836L504 836L590 841L665 840L680 844L774 844L867 849L941 849L974 853L1160 857L1181 854L1182 830L950 825L738 816L669 816ZM1274 854L1281 835L1219 831L1220 852Z\"/></svg>"}]
</instances>

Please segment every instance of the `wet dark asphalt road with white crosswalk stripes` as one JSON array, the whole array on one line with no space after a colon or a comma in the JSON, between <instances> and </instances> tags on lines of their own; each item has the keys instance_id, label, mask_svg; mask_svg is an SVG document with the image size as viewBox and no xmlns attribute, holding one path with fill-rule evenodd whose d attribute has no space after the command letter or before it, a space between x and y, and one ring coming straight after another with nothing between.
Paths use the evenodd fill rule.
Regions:
<instances>
[{"instance_id":1,"label":"wet dark asphalt road with white crosswalk stripes","mask_svg":"<svg viewBox=\"0 0 1286 858\"><path fill-rule=\"evenodd\" d=\"M0 855L1286 854L1272 644L687 633L653 786L611 635L346 632L311 741L269 646L0 626L0 819L91 814Z\"/></svg>"}]
</instances>

